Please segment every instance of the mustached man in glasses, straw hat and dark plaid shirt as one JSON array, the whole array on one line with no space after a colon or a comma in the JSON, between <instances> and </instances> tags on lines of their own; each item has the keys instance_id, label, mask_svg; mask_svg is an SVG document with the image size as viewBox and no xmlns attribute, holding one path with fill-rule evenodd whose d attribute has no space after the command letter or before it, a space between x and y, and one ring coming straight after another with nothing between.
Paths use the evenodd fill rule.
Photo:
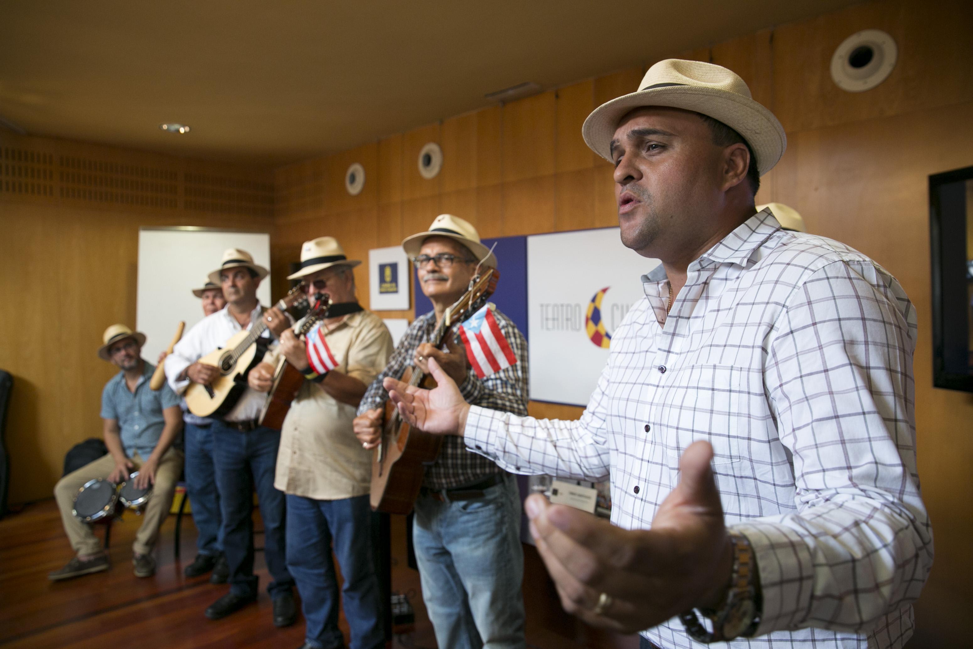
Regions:
<instances>
[{"instance_id":1,"label":"mustached man in glasses, straw hat and dark plaid shirt","mask_svg":"<svg viewBox=\"0 0 973 649\"><path fill-rule=\"evenodd\" d=\"M496 267L476 229L442 214L429 231L406 238L402 245L413 258L433 310L415 319L362 398L354 420L359 441L366 449L378 446L388 398L382 379L399 378L411 365L425 372L429 359L439 363L471 403L526 415L527 344L506 315L493 310L518 362L484 379L471 369L462 343L454 339L455 329L445 349L428 342L447 307L466 292L480 260L485 269ZM521 498L514 477L467 451L462 440L447 438L439 458L426 469L414 514L422 598L439 646L523 648Z\"/></svg>"}]
</instances>

